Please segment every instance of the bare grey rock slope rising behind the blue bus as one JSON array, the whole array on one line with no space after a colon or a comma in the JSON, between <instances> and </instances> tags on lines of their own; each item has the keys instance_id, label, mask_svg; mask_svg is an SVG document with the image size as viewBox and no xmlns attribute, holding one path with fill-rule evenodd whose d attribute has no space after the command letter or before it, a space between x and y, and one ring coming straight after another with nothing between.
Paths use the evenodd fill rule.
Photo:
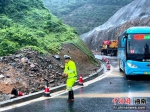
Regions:
<instances>
[{"instance_id":1,"label":"bare grey rock slope rising behind the blue bus","mask_svg":"<svg viewBox=\"0 0 150 112\"><path fill-rule=\"evenodd\" d=\"M150 0L135 0L118 10L106 23L81 35L92 49L100 50L102 40L117 39L132 26L150 26Z\"/></svg>"}]
</instances>

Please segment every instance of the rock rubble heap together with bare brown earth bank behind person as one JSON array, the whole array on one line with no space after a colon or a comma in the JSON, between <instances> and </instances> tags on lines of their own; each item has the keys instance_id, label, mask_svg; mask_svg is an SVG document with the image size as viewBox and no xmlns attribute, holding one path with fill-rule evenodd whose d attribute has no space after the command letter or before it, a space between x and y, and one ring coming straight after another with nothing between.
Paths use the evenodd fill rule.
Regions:
<instances>
[{"instance_id":1,"label":"rock rubble heap together with bare brown earth bank behind person","mask_svg":"<svg viewBox=\"0 0 150 112\"><path fill-rule=\"evenodd\" d=\"M99 67L91 64L87 56L71 44L63 46L57 60L53 55L41 55L31 49L24 49L10 56L0 57L0 94L9 94L13 87L30 94L45 87L59 86L66 79L61 74L64 67L63 55L68 54L76 62L78 74L89 75Z\"/></svg>"}]
</instances>

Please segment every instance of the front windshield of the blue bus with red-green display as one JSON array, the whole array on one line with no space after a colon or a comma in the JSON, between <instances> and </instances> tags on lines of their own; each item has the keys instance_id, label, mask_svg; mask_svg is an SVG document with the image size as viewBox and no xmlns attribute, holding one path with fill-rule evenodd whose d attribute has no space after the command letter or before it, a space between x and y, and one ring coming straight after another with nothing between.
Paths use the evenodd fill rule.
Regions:
<instances>
[{"instance_id":1,"label":"front windshield of the blue bus with red-green display","mask_svg":"<svg viewBox=\"0 0 150 112\"><path fill-rule=\"evenodd\" d=\"M150 34L129 34L127 39L127 54L150 55Z\"/></svg>"}]
</instances>

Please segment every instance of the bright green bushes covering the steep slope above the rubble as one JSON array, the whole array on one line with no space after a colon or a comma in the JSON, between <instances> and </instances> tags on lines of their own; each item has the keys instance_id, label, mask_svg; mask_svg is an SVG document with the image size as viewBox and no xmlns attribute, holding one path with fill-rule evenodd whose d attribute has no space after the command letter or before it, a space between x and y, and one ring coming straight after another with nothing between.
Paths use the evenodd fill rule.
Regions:
<instances>
[{"instance_id":1,"label":"bright green bushes covering the steep slope above the rubble","mask_svg":"<svg viewBox=\"0 0 150 112\"><path fill-rule=\"evenodd\" d=\"M74 42L74 38L80 43ZM0 1L0 56L24 48L42 54L59 53L61 44L69 41L95 61L76 30L52 15L41 0Z\"/></svg>"}]
</instances>

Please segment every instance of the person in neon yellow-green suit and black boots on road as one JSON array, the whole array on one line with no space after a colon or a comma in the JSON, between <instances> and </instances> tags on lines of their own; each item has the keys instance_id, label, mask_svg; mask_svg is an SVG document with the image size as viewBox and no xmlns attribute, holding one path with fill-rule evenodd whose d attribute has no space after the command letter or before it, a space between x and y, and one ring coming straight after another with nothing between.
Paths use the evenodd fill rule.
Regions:
<instances>
[{"instance_id":1,"label":"person in neon yellow-green suit and black boots on road","mask_svg":"<svg viewBox=\"0 0 150 112\"><path fill-rule=\"evenodd\" d=\"M75 62L71 60L71 57L68 55L64 55L65 59L65 69L62 74L63 77L67 77L66 88L68 90L68 102L74 101L74 93L72 86L77 80L77 70Z\"/></svg>"}]
</instances>

